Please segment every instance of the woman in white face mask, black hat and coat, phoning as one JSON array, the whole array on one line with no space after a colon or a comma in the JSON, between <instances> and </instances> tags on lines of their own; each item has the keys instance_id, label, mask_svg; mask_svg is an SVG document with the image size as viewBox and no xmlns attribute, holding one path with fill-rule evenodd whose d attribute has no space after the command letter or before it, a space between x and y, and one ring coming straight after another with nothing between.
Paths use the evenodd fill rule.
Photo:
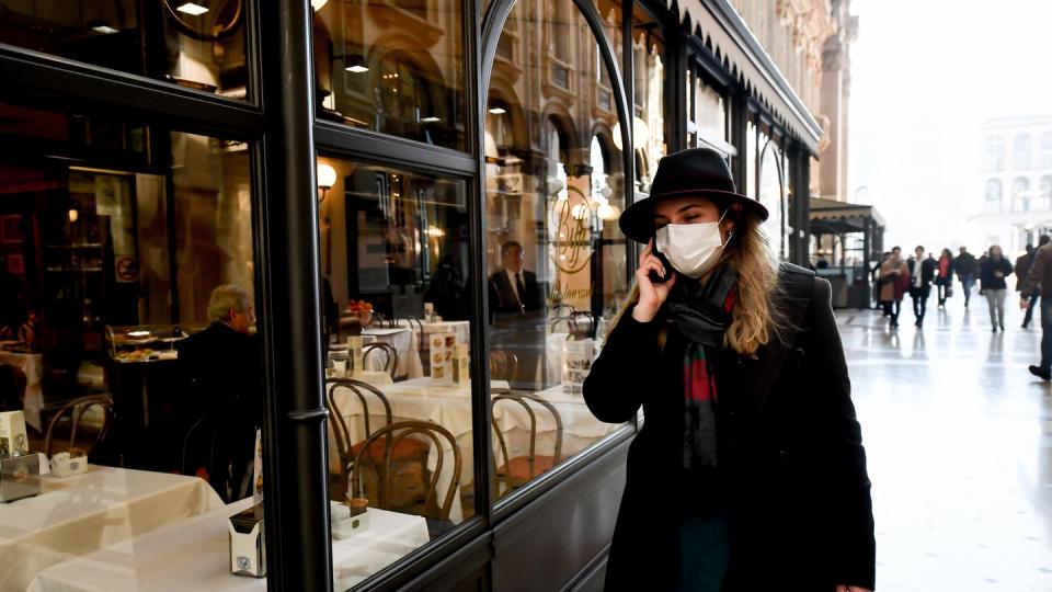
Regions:
<instances>
[{"instance_id":1,"label":"woman in white face mask, black hat and coat, phoning","mask_svg":"<svg viewBox=\"0 0 1052 592\"><path fill-rule=\"evenodd\" d=\"M701 148L662 159L650 196L621 215L647 247L584 383L601 420L645 415L608 590L874 585L870 482L830 284L779 266L766 218Z\"/></svg>"}]
</instances>

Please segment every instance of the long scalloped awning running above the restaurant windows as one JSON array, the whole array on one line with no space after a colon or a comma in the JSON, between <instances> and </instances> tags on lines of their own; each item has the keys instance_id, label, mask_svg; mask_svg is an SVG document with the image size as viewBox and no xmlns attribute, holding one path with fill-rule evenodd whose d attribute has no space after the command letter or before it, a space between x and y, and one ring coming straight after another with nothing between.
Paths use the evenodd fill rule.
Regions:
<instances>
[{"instance_id":1,"label":"long scalloped awning running above the restaurant windows","mask_svg":"<svg viewBox=\"0 0 1052 592\"><path fill-rule=\"evenodd\" d=\"M674 0L666 1L673 10ZM707 0L679 0L677 4L679 21L689 18L690 32L729 64L735 77L745 80L753 96L770 110L778 124L817 153L822 126L734 9L727 2Z\"/></svg>"}]
</instances>

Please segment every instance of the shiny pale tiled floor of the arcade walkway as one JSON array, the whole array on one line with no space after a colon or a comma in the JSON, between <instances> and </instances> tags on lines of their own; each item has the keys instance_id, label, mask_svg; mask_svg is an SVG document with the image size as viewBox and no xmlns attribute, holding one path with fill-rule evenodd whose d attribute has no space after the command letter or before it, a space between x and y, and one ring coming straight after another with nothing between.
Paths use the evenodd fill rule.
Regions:
<instances>
[{"instance_id":1,"label":"shiny pale tiled floor of the arcade walkway","mask_svg":"<svg viewBox=\"0 0 1052 592\"><path fill-rule=\"evenodd\" d=\"M897 332L877 311L841 311L873 481L881 591L1052 591L1052 396L1027 372L1041 331L1006 333L985 300L924 330L908 297Z\"/></svg>"}]
</instances>

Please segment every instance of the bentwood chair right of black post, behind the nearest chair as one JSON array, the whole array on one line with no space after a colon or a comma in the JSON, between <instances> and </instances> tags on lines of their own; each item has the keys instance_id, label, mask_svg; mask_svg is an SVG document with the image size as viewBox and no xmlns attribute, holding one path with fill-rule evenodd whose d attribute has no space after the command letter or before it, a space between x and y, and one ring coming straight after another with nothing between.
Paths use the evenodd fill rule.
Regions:
<instances>
[{"instance_id":1,"label":"bentwood chair right of black post, behind the nearest chair","mask_svg":"<svg viewBox=\"0 0 1052 592\"><path fill-rule=\"evenodd\" d=\"M390 425L393 422L393 414L391 412L391 402L384 392L368 383L353 378L332 378L329 379L327 384L329 385L327 402L330 414L335 419L332 424L332 431L336 440L336 454L340 457L340 474L338 476L340 496L338 496L338 499L343 499L343 493L347 491L350 485L350 474L354 458L365 448L365 443L374 433L371 429L373 420L369 410L369 397L366 397L366 394L379 399L379 402L384 406L385 425ZM351 429L347 426L346 419L344 419L339 406L336 406L335 392L336 389L340 388L350 390L358 399L358 402L362 403L365 440L354 444L351 443ZM373 444L368 453L370 460L379 462L384 454L386 454L386 451L381 444ZM398 460L426 458L427 445L418 440L404 440L399 442L399 445L395 447L391 454Z\"/></svg>"}]
</instances>

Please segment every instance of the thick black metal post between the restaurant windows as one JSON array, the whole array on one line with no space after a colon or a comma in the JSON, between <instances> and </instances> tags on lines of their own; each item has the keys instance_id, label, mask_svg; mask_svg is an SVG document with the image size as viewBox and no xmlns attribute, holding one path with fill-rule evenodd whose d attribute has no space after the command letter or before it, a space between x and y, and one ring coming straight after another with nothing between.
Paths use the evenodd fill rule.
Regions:
<instances>
[{"instance_id":1,"label":"thick black metal post between the restaurant windows","mask_svg":"<svg viewBox=\"0 0 1052 592\"><path fill-rule=\"evenodd\" d=\"M311 9L260 3L263 140L258 309L267 391L264 454L271 590L332 590L321 376L320 237Z\"/></svg>"}]
</instances>

